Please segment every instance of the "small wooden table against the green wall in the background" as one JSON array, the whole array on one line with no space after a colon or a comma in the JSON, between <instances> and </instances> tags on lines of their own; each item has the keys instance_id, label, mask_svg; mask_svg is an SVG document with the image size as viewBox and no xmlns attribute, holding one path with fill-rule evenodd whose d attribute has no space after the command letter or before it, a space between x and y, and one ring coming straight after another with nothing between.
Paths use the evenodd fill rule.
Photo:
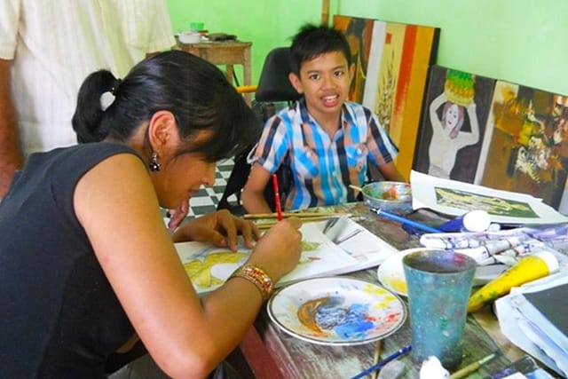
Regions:
<instances>
[{"instance_id":1,"label":"small wooden table against the green wall in the background","mask_svg":"<svg viewBox=\"0 0 568 379\"><path fill-rule=\"evenodd\" d=\"M244 83L241 85L251 85L251 66L250 66L250 42L222 41L222 42L201 42L201 43L180 43L177 41L176 48L191 52L194 55L207 59L215 65L224 65L229 82L235 83L233 66L242 65ZM250 105L250 94L246 93Z\"/></svg>"}]
</instances>

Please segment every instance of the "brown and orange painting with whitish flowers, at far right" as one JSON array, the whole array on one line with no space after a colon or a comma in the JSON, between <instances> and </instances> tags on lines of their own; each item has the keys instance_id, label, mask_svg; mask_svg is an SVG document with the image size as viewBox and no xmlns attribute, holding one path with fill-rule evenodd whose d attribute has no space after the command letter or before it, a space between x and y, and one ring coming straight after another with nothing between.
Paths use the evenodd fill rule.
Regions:
<instances>
[{"instance_id":1,"label":"brown and orange painting with whitish flowers, at far right","mask_svg":"<svg viewBox=\"0 0 568 379\"><path fill-rule=\"evenodd\" d=\"M498 81L476 182L532 194L558 209L568 169L568 101Z\"/></svg>"}]
</instances>

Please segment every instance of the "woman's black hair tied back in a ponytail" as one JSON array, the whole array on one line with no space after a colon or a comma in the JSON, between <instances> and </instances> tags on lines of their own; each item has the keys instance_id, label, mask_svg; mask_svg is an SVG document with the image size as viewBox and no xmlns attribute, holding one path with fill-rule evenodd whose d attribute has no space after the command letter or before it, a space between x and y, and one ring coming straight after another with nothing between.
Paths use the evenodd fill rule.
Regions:
<instances>
[{"instance_id":1,"label":"woman's black hair tied back in a ponytail","mask_svg":"<svg viewBox=\"0 0 568 379\"><path fill-rule=\"evenodd\" d=\"M105 92L112 92L114 101L103 110ZM175 115L180 138L190 141L179 146L177 155L202 154L208 162L254 144L262 127L215 65L188 52L165 51L142 60L122 81L108 70L89 75L79 90L73 129L80 143L124 142L161 110ZM192 144L201 130L209 130L211 137Z\"/></svg>"}]
</instances>

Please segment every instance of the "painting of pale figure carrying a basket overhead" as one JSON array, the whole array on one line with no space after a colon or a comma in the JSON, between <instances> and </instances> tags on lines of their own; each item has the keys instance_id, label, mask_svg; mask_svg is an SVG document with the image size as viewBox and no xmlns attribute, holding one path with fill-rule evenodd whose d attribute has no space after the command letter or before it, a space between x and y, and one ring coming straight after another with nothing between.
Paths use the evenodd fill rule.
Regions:
<instances>
[{"instance_id":1,"label":"painting of pale figure carrying a basket overhead","mask_svg":"<svg viewBox=\"0 0 568 379\"><path fill-rule=\"evenodd\" d=\"M430 68L414 170L474 183L494 85L483 76Z\"/></svg>"}]
</instances>

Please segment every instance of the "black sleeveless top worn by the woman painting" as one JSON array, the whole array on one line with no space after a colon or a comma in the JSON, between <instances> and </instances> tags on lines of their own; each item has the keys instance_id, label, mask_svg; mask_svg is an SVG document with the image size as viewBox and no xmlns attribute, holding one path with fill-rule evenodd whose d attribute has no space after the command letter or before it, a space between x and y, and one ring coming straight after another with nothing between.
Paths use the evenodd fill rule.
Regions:
<instances>
[{"instance_id":1,"label":"black sleeveless top worn by the woman painting","mask_svg":"<svg viewBox=\"0 0 568 379\"><path fill-rule=\"evenodd\" d=\"M0 377L105 377L106 358L134 333L73 205L83 174L124 153L136 154L59 148L14 176L0 202Z\"/></svg>"}]
</instances>

